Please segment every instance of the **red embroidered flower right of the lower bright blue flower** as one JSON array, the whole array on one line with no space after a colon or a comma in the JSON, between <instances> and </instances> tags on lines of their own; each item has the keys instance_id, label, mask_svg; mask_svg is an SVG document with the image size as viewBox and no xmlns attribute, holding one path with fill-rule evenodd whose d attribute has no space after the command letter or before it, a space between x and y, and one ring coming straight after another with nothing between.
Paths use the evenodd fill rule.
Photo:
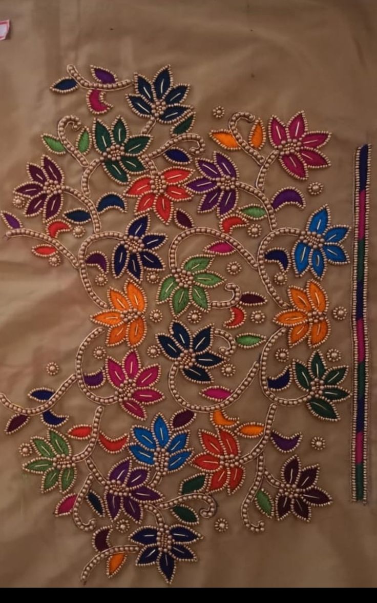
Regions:
<instances>
[{"instance_id":1,"label":"red embroidered flower right of the lower bright blue flower","mask_svg":"<svg viewBox=\"0 0 377 603\"><path fill-rule=\"evenodd\" d=\"M199 437L207 452L196 455L193 465L211 474L208 490L214 492L226 488L228 494L232 494L241 486L245 477L237 440L223 429L219 429L217 436L201 431Z\"/></svg>"}]
</instances>

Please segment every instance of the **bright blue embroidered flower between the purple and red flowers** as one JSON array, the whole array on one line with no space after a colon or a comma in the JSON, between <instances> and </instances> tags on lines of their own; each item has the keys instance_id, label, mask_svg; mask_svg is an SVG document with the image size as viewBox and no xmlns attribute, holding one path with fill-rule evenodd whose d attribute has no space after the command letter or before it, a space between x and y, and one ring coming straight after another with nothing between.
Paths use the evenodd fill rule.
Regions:
<instances>
[{"instance_id":1,"label":"bright blue embroidered flower between the purple and red flowers","mask_svg":"<svg viewBox=\"0 0 377 603\"><path fill-rule=\"evenodd\" d=\"M170 435L162 415L157 415L151 429L134 427L132 431L139 442L129 446L132 455L141 463L154 465L161 473L181 469L192 455L192 449L186 449L189 433Z\"/></svg>"}]
</instances>

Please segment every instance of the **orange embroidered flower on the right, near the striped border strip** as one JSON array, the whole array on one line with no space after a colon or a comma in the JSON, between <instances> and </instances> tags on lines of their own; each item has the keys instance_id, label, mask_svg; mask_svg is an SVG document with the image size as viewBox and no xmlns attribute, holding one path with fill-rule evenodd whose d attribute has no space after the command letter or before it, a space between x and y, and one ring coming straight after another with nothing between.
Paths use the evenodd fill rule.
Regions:
<instances>
[{"instance_id":1,"label":"orange embroidered flower on the right, near the striped border strip","mask_svg":"<svg viewBox=\"0 0 377 603\"><path fill-rule=\"evenodd\" d=\"M274 318L275 323L288 327L290 347L305 338L310 347L319 346L330 332L325 315L328 309L325 291L314 280L310 280L305 289L289 287L288 295L294 309L279 312Z\"/></svg>"}]
</instances>

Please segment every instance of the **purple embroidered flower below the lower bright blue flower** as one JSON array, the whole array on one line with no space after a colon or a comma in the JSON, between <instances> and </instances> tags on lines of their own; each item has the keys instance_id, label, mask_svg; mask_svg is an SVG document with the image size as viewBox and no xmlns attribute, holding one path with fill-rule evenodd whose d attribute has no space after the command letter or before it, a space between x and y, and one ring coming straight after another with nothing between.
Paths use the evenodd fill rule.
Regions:
<instances>
[{"instance_id":1,"label":"purple embroidered flower below the lower bright blue flower","mask_svg":"<svg viewBox=\"0 0 377 603\"><path fill-rule=\"evenodd\" d=\"M111 469L105 485L106 507L111 519L117 519L123 510L135 522L141 522L143 505L161 498L160 492L145 485L148 480L148 470L132 469L129 459Z\"/></svg>"}]
</instances>

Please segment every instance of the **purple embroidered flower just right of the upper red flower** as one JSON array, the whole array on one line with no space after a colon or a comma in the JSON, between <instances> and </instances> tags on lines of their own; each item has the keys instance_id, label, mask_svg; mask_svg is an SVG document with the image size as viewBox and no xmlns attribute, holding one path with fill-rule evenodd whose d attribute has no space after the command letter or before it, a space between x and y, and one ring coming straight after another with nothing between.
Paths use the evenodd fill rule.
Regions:
<instances>
[{"instance_id":1,"label":"purple embroidered flower just right of the upper red flower","mask_svg":"<svg viewBox=\"0 0 377 603\"><path fill-rule=\"evenodd\" d=\"M229 213L238 200L238 170L234 163L222 153L213 154L214 160L198 159L196 165L202 178L187 184L197 195L204 193L199 212L211 212L215 207L217 216Z\"/></svg>"}]
</instances>

